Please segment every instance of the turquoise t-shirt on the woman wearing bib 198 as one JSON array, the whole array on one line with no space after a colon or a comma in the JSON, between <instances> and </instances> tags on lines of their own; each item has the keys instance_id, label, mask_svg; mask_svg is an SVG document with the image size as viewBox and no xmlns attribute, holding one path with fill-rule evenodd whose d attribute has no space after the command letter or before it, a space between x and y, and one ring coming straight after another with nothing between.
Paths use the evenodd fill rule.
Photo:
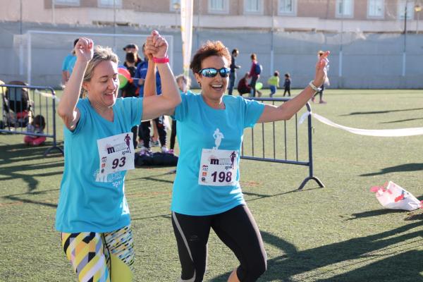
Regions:
<instances>
[{"instance_id":1,"label":"turquoise t-shirt on the woman wearing bib 198","mask_svg":"<svg viewBox=\"0 0 423 282\"><path fill-rule=\"evenodd\" d=\"M264 104L226 95L223 96L225 109L213 109L204 102L201 94L188 92L181 97L182 102L176 107L174 116L178 121L176 134L180 156L173 183L172 211L204 216L226 212L244 204L239 168L235 185L199 184L202 149L216 146L215 133L218 132L222 136L218 149L240 152L244 128L257 123ZM238 154L238 164L239 161Z\"/></svg>"}]
</instances>

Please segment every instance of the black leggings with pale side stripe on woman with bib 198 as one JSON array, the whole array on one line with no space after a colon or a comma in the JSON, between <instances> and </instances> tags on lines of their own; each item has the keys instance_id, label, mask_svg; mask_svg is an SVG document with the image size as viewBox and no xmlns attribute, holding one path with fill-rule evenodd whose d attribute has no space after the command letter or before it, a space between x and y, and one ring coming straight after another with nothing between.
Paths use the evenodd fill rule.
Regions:
<instances>
[{"instance_id":1,"label":"black leggings with pale side stripe on woman with bib 198","mask_svg":"<svg viewBox=\"0 0 423 282\"><path fill-rule=\"evenodd\" d=\"M266 252L254 218L245 205L211 216L188 216L172 212L172 225L183 281L201 282L207 264L210 228L240 261L237 276L242 282L257 281L266 271Z\"/></svg>"}]
</instances>

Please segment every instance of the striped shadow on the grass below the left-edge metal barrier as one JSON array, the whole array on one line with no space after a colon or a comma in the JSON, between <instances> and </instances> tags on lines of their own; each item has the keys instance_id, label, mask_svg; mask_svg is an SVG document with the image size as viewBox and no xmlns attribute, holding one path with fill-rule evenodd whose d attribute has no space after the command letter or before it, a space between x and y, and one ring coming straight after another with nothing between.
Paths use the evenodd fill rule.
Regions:
<instances>
[{"instance_id":1,"label":"striped shadow on the grass below the left-edge metal barrier","mask_svg":"<svg viewBox=\"0 0 423 282\"><path fill-rule=\"evenodd\" d=\"M25 163L30 161L35 161L38 159L49 159L60 156L61 154L50 154L49 156L43 156L45 150L49 147L47 142L46 145L39 147L31 147L23 144L15 145L4 145L1 146L1 156L0 156L0 165L1 165L1 180L23 180L27 183L28 191L33 191L37 189L39 181L36 177L42 176L54 176L61 174L62 171L52 171L47 173L37 173L37 171L43 171L47 168L56 168L63 167L63 159L61 161L50 161L47 163L33 163L33 164L19 164L13 166L14 162L25 161ZM32 174L25 174L25 171L30 171Z\"/></svg>"}]
</instances>

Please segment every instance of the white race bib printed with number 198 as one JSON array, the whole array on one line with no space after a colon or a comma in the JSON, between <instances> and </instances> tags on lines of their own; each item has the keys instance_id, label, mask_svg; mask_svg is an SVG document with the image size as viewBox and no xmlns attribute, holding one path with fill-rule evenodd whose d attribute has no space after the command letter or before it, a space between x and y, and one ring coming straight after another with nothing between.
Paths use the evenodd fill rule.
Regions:
<instances>
[{"instance_id":1,"label":"white race bib printed with number 198","mask_svg":"<svg viewBox=\"0 0 423 282\"><path fill-rule=\"evenodd\" d=\"M236 185L238 150L202 149L198 184Z\"/></svg>"}]
</instances>

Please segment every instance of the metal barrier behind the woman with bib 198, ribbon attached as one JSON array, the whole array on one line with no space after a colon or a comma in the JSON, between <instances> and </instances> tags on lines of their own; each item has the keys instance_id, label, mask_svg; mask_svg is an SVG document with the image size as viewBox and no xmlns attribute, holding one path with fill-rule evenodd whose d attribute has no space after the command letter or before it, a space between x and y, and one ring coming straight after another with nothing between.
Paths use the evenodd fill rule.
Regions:
<instances>
[{"instance_id":1,"label":"metal barrier behind the woman with bib 198, ribbon attached","mask_svg":"<svg viewBox=\"0 0 423 282\"><path fill-rule=\"evenodd\" d=\"M247 99L255 99L257 101L260 102L271 102L273 105L275 104L275 102L286 102L289 101L290 98L264 98L264 97L260 97L260 98L256 98L256 97L246 97ZM307 103L305 105L307 107L307 111L311 112L312 109L309 105L309 103ZM294 118L293 118L294 119ZM313 172L313 148L312 148L312 116L308 116L307 118L307 144L308 144L308 160L307 161L300 161L299 160L299 137L298 137L298 114L295 114L295 140L293 142L295 142L295 157L293 159L288 158L288 130L287 130L287 122L289 121L278 121L278 122L273 122L271 127L271 137L273 138L273 140L271 140L271 143L273 145L273 148L271 150L271 157L266 157L265 154L265 150L266 147L266 135L265 134L265 130L264 130L264 123L262 123L262 144L261 144L261 151L262 151L262 156L261 157L257 157L257 155L255 155L255 133L254 133L254 128L251 128L251 142L249 142L250 145L250 151L251 151L251 155L247 155L245 154L246 151L246 147L247 145L245 145L245 139L243 141L243 146L242 146L242 152L241 152L241 158L242 159L251 159L251 160L255 160L255 161L270 161L270 162L274 162L274 163L282 163L282 164L295 164L295 165L300 165L300 166L308 166L309 167L309 176L307 176L307 178L305 178L300 187L298 188L298 190L301 190L302 188L304 188L305 184L309 181L309 180L314 180L317 182L317 184L319 185L320 188L324 188L324 184L321 182L321 180L319 180L319 178L317 178L316 176L314 176L314 172ZM284 152L283 152L283 158L281 157L276 157L277 151L276 149L278 148L277 145L280 145L280 143L276 142L276 123L283 123L283 140L284 140ZM256 127L257 128L257 127ZM245 135L244 135L245 138ZM257 140L257 138L256 138ZM292 142L292 140L291 140ZM257 146L256 146L257 147ZM256 149L257 152L257 149ZM273 156L273 157L272 157Z\"/></svg>"}]
</instances>

